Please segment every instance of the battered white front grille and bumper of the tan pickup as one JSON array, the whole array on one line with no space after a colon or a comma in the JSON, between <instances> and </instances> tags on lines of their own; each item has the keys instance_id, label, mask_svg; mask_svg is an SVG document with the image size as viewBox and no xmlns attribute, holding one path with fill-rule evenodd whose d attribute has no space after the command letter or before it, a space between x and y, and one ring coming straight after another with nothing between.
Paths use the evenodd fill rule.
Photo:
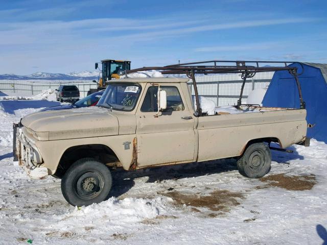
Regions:
<instances>
[{"instance_id":1,"label":"battered white front grille and bumper of the tan pickup","mask_svg":"<svg viewBox=\"0 0 327 245\"><path fill-rule=\"evenodd\" d=\"M24 169L31 179L44 179L48 176L48 168L41 167L42 157L34 143L29 140L19 127L14 128L13 154L19 166Z\"/></svg>"}]
</instances>

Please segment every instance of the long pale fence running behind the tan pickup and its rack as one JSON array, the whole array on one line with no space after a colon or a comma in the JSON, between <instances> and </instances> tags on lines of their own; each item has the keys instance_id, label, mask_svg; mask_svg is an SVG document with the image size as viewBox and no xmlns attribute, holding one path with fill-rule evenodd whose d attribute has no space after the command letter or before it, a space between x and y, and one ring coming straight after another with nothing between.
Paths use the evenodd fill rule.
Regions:
<instances>
[{"instance_id":1,"label":"long pale fence running behind the tan pickup and its rack","mask_svg":"<svg viewBox=\"0 0 327 245\"><path fill-rule=\"evenodd\" d=\"M242 103L246 103L249 93L256 88L267 88L274 72L260 72L246 81ZM235 105L240 95L243 80L239 74L223 74L212 76L197 76L199 95L212 100L217 106ZM0 80L0 91L3 93L17 93L19 95L36 95L49 88L56 89L59 85L76 85L80 90L80 97L85 97L90 88L97 88L97 84L85 81L25 81ZM192 85L191 82L189 82ZM192 88L192 87L191 87ZM194 89L192 88L192 94Z\"/></svg>"}]
</instances>

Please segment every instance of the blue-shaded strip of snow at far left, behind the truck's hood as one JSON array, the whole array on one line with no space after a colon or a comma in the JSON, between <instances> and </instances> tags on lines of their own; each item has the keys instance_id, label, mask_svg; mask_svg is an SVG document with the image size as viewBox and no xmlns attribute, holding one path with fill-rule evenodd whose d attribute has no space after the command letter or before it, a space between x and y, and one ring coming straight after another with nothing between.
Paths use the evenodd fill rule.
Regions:
<instances>
[{"instance_id":1,"label":"blue-shaded strip of snow at far left, behind the truck's hood","mask_svg":"<svg viewBox=\"0 0 327 245\"><path fill-rule=\"evenodd\" d=\"M34 100L8 100L0 101L0 105L4 108L5 112L15 114L15 110L26 109L26 108L44 108L51 106L59 106L60 103L56 101L34 101Z\"/></svg>"}]
</instances>

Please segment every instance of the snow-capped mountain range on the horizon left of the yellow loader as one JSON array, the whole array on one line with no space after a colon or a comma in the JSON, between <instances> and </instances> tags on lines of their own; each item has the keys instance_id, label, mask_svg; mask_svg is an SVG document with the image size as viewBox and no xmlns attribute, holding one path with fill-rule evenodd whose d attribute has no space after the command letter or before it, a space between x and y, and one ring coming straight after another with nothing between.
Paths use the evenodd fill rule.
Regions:
<instances>
[{"instance_id":1,"label":"snow-capped mountain range on the horizon left of the yellow loader","mask_svg":"<svg viewBox=\"0 0 327 245\"><path fill-rule=\"evenodd\" d=\"M31 75L0 75L0 80L98 80L99 71L71 72L69 74L35 72Z\"/></svg>"}]
</instances>

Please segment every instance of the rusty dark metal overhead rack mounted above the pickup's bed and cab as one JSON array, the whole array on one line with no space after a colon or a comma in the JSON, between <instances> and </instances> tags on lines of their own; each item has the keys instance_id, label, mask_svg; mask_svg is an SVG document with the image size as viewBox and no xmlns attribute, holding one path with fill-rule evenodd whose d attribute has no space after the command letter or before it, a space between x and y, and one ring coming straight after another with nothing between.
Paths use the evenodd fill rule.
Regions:
<instances>
[{"instance_id":1,"label":"rusty dark metal overhead rack mounted above the pickup's bed and cab","mask_svg":"<svg viewBox=\"0 0 327 245\"><path fill-rule=\"evenodd\" d=\"M167 66L149 66L149 67L141 67L137 69L126 70L125 75L137 72L137 71L145 71L145 70L160 70L161 74L185 74L188 78L192 79L196 100L196 113L195 116L201 116L202 110L199 102L199 94L198 88L195 81L195 74L230 74L236 73L241 74L241 78L243 79L240 97L237 103L237 107L242 105L242 95L244 90L244 85L247 78L252 78L256 74L256 72L265 72L265 71L277 71L277 70L288 70L291 75L293 75L298 93L300 98L300 109L306 108L306 103L302 98L301 86L298 80L297 67L288 66L290 63L297 62L289 62L289 61L226 61L226 60L211 60L211 61L200 61L200 62L192 62L192 63L183 63L183 64L173 64ZM274 64L276 66L260 66L262 64ZM301 63L299 63L301 65ZM302 66L302 65L301 65ZM303 72L303 66L302 66Z\"/></svg>"}]
</instances>

